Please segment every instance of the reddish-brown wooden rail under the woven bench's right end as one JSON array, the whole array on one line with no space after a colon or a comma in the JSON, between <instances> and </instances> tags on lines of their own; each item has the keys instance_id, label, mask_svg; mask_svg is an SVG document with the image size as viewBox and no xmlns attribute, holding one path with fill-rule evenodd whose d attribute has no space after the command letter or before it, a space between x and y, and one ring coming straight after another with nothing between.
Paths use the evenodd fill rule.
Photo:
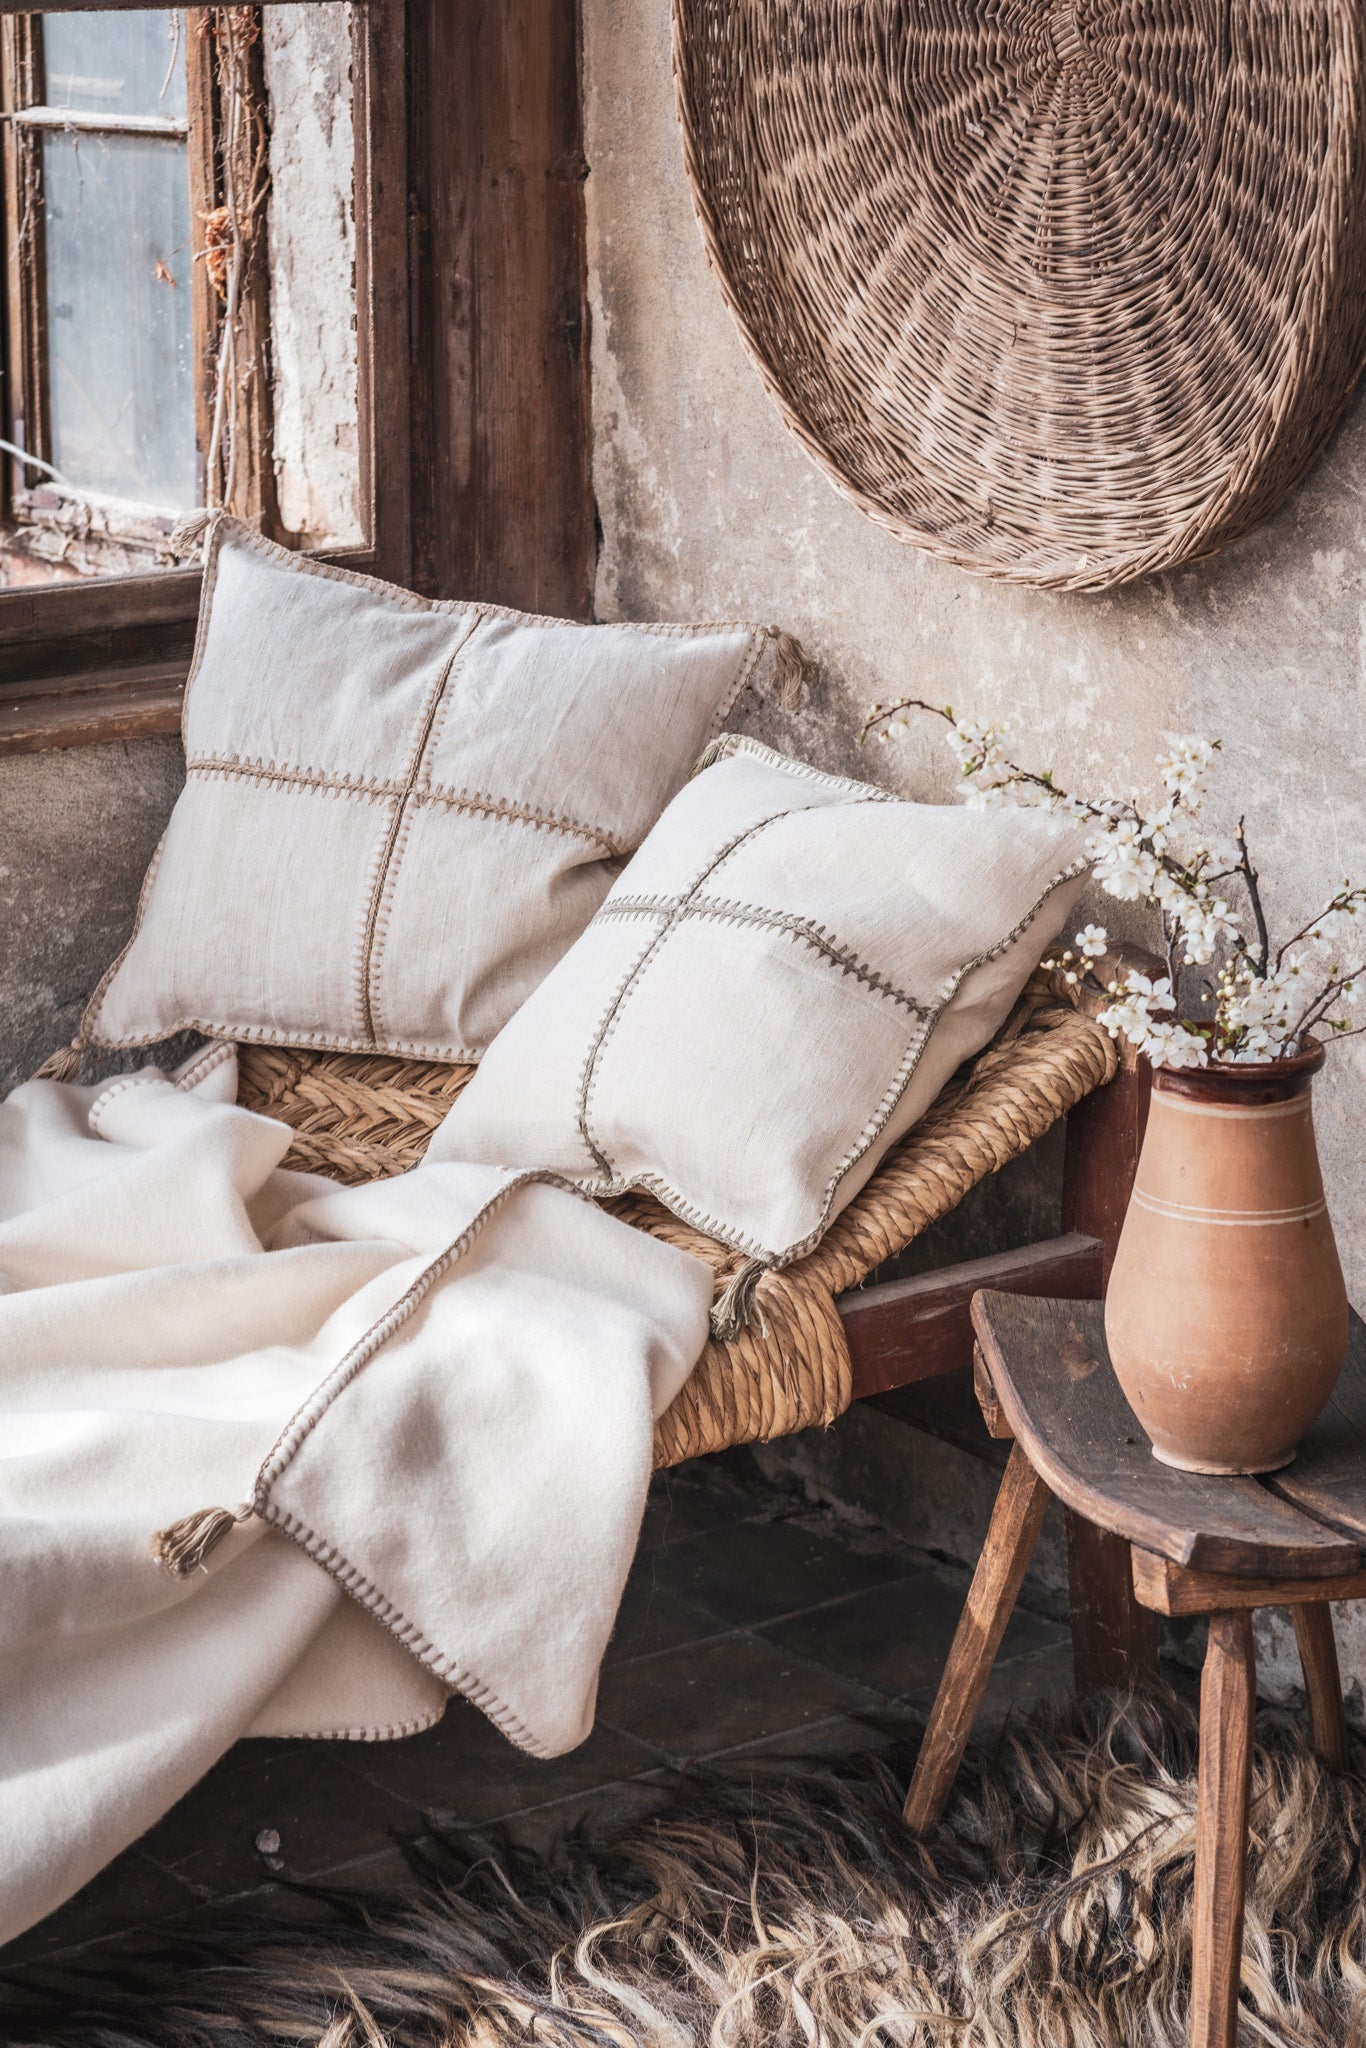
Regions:
<instances>
[{"instance_id":1,"label":"reddish-brown wooden rail under the woven bench's right end","mask_svg":"<svg viewBox=\"0 0 1366 2048\"><path fill-rule=\"evenodd\" d=\"M854 1399L952 1372L973 1360L973 1294L1100 1298L1102 1249L1094 1237L1049 1237L989 1260L967 1260L913 1280L883 1280L838 1300L854 1364Z\"/></svg>"}]
</instances>

